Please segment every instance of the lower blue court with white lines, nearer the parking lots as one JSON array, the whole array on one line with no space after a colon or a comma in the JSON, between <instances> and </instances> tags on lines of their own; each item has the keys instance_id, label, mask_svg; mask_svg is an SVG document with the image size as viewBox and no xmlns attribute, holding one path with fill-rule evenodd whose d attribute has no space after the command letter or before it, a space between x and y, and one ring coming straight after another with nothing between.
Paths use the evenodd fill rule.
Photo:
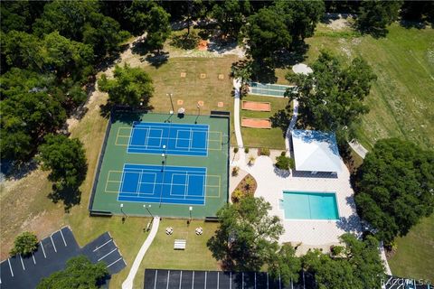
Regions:
<instances>
[{"instance_id":1,"label":"lower blue court with white lines, nearer the parking lots","mask_svg":"<svg viewBox=\"0 0 434 289\"><path fill-rule=\"evenodd\" d=\"M124 164L118 200L204 205L206 168Z\"/></svg>"}]
</instances>

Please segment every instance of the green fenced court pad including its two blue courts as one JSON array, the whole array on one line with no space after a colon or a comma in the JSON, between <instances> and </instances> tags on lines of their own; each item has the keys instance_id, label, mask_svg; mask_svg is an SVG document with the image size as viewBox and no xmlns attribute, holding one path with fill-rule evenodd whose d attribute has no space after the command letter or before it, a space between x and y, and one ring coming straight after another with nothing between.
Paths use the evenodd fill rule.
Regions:
<instances>
[{"instance_id":1,"label":"green fenced court pad including its two blue courts","mask_svg":"<svg viewBox=\"0 0 434 289\"><path fill-rule=\"evenodd\" d=\"M227 203L229 117L117 111L106 134L90 211L203 219Z\"/></svg>"}]
</instances>

